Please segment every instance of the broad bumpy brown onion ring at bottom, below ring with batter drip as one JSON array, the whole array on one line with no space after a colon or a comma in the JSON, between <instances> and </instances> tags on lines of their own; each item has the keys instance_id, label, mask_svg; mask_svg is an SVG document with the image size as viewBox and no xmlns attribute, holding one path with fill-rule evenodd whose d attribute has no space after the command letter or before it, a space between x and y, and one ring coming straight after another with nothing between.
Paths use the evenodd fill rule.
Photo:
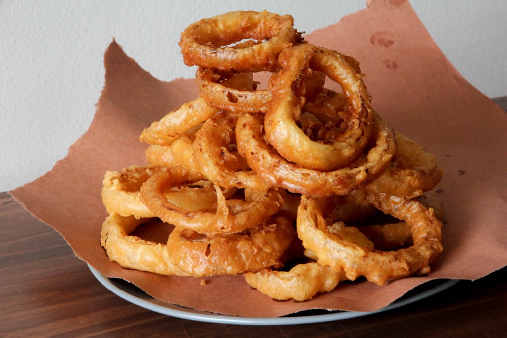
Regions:
<instances>
[{"instance_id":1,"label":"broad bumpy brown onion ring at bottom, below ring with batter drip","mask_svg":"<svg viewBox=\"0 0 507 338\"><path fill-rule=\"evenodd\" d=\"M267 218L246 233L206 236L176 227L169 235L169 261L192 276L236 275L279 266L294 236L292 221Z\"/></svg>"}]
</instances>

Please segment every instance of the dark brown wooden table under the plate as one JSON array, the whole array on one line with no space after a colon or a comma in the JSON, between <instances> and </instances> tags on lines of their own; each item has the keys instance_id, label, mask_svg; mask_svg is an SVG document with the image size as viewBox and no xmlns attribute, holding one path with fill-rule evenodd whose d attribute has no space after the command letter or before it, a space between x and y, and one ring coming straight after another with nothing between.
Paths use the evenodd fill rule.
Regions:
<instances>
[{"instance_id":1,"label":"dark brown wooden table under the plate","mask_svg":"<svg viewBox=\"0 0 507 338\"><path fill-rule=\"evenodd\" d=\"M507 108L507 97L495 99ZM190 321L104 288L63 238L0 193L0 336L507 336L507 268L417 303L333 322L245 326Z\"/></svg>"}]
</instances>

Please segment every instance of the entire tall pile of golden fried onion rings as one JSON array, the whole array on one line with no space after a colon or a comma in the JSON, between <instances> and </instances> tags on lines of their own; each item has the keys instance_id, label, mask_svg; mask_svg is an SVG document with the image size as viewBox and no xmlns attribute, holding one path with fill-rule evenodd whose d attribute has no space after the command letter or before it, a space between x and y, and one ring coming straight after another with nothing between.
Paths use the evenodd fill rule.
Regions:
<instances>
[{"instance_id":1,"label":"entire tall pile of golden fried onion rings","mask_svg":"<svg viewBox=\"0 0 507 338\"><path fill-rule=\"evenodd\" d=\"M358 61L268 12L200 20L179 46L198 66L199 96L142 131L148 166L105 174L111 260L166 275L243 274L297 301L342 280L430 271L442 251L442 170L372 108ZM141 224L161 238L137 236Z\"/></svg>"}]
</instances>

